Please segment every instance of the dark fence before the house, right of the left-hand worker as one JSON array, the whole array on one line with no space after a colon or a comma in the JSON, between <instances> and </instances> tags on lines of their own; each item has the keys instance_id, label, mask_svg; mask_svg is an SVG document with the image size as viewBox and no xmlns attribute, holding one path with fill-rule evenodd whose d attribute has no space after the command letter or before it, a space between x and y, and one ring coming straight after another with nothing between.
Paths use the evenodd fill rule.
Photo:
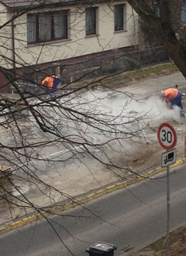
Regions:
<instances>
[{"instance_id":1,"label":"dark fence before the house, right of the left-hand worker","mask_svg":"<svg viewBox=\"0 0 186 256\"><path fill-rule=\"evenodd\" d=\"M94 76L107 76L169 61L169 55L161 46L138 51L99 56L83 62L67 65L63 76L65 83Z\"/></svg>"}]
</instances>

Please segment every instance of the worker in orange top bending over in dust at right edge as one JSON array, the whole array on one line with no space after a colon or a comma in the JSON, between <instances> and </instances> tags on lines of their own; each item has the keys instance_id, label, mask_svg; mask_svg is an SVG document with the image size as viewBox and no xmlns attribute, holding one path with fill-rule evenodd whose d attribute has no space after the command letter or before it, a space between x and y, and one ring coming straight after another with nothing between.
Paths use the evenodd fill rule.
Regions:
<instances>
[{"instance_id":1,"label":"worker in orange top bending over in dust at right edge","mask_svg":"<svg viewBox=\"0 0 186 256\"><path fill-rule=\"evenodd\" d=\"M176 86L177 87L177 86ZM166 103L171 104L171 108L174 106L180 107L180 116L184 117L184 107L181 103L182 93L176 88L169 88L162 91L162 95L165 98Z\"/></svg>"}]
</instances>

